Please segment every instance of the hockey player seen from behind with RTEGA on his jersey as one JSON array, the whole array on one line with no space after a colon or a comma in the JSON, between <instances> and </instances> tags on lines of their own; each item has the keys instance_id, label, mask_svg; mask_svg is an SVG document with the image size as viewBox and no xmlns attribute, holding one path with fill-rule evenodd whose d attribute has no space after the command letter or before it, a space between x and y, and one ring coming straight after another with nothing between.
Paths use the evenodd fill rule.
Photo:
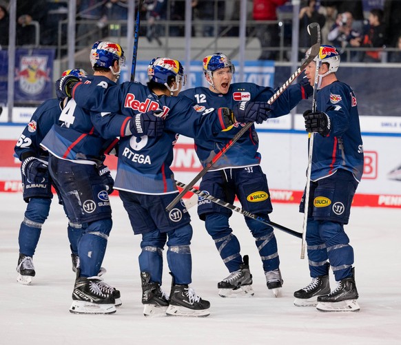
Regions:
<instances>
[{"instance_id":1,"label":"hockey player seen from behind with RTEGA on his jersey","mask_svg":"<svg viewBox=\"0 0 401 345\"><path fill-rule=\"evenodd\" d=\"M145 315L207 316L209 302L189 286L192 282L192 255L189 247L192 227L189 213L178 203L167 213L165 207L178 193L170 168L178 134L192 138L212 138L236 121L263 121L269 114L266 103L243 103L233 112L212 109L175 97L185 85L183 66L174 59L153 59L148 67L147 86L123 83L117 87L93 87L76 83L72 95L77 104L102 112L102 135L115 136L124 131L124 118L141 116L150 109L164 121L160 136L136 135L121 138L115 189L127 210L135 234L142 235L139 266ZM61 90L70 90L70 81L61 81ZM116 101L118 100L118 101ZM116 107L116 105L119 105ZM111 112L107 116L107 110ZM116 114L121 112L121 114ZM147 113L145 113L147 114ZM143 114L142 114L143 115ZM113 128L115 127L115 128ZM138 130L136 132L140 132ZM172 274L169 298L161 290L163 248L167 244L167 263Z\"/></svg>"}]
</instances>

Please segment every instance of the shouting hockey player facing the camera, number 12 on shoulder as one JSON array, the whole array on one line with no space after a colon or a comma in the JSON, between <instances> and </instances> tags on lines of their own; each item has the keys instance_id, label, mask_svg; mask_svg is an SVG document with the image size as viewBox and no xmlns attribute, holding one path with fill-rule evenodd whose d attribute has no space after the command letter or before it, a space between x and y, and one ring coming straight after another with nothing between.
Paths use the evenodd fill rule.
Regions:
<instances>
[{"instance_id":1,"label":"shouting hockey player facing the camera, number 12 on shoulder","mask_svg":"<svg viewBox=\"0 0 401 345\"><path fill-rule=\"evenodd\" d=\"M181 92L181 97L185 96L205 107L233 108L241 101L267 102L275 92L271 87L254 83L232 83L235 67L229 57L220 52L205 56L203 72L209 87L185 90ZM312 92L313 88L309 83L290 85L274 103L269 117L288 114ZM214 138L196 138L196 154L202 165L209 163L244 125L236 123ZM230 203L233 203L237 196L243 209L268 220L272 206L267 178L260 167L260 159L258 134L252 126L249 132L234 143L203 176L200 190ZM240 243L229 227L232 211L210 200L200 200L198 215L201 220L205 220L206 230L212 236L218 253L229 271L228 277L218 283L218 294L221 297L254 295L248 257L247 255L241 257ZM282 277L273 228L252 218L245 217L245 222L255 239L262 260L267 289L277 297L282 286Z\"/></svg>"}]
</instances>

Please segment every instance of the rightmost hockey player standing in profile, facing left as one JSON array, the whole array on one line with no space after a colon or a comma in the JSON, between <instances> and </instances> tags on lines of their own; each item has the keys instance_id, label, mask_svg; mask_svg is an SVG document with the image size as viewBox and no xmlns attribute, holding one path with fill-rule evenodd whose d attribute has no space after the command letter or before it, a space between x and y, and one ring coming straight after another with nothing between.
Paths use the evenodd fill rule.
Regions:
<instances>
[{"instance_id":1,"label":"rightmost hockey player standing in profile, facing left","mask_svg":"<svg viewBox=\"0 0 401 345\"><path fill-rule=\"evenodd\" d=\"M351 87L336 77L340 65L336 48L322 45L320 54L307 66L305 74L311 85L316 63L321 63L316 112L303 114L307 132L314 136L306 229L312 281L294 293L294 304L316 306L319 311L359 311L353 248L344 231L363 172L358 105ZM305 194L300 211L304 209ZM333 291L329 267L338 282Z\"/></svg>"}]
</instances>

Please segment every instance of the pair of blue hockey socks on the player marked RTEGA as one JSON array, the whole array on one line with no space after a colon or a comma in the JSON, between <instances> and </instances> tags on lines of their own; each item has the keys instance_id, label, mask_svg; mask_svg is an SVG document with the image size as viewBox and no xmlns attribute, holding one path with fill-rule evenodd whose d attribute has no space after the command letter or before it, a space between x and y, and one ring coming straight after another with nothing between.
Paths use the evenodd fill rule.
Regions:
<instances>
[{"instance_id":1,"label":"pair of blue hockey socks on the player marked RTEGA","mask_svg":"<svg viewBox=\"0 0 401 345\"><path fill-rule=\"evenodd\" d=\"M172 272L174 283L190 284L192 282L192 256L189 248L191 238L190 224L163 233L158 230L143 233L142 252L139 255L141 272L149 273L151 282L162 284L163 247L167 241L167 264Z\"/></svg>"}]
</instances>

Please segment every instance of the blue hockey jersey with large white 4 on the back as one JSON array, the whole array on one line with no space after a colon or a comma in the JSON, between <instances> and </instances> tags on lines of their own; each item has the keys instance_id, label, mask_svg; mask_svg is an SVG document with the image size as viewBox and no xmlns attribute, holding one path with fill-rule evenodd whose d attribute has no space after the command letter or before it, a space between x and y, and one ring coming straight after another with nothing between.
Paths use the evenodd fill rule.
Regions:
<instances>
[{"instance_id":1,"label":"blue hockey jersey with large white 4 on the back","mask_svg":"<svg viewBox=\"0 0 401 345\"><path fill-rule=\"evenodd\" d=\"M105 76L89 76L85 83L116 85ZM101 164L105 151L117 140L105 140L92 123L90 111L77 107L70 98L59 116L59 123L52 126L41 143L54 156L79 161L83 164Z\"/></svg>"}]
</instances>

